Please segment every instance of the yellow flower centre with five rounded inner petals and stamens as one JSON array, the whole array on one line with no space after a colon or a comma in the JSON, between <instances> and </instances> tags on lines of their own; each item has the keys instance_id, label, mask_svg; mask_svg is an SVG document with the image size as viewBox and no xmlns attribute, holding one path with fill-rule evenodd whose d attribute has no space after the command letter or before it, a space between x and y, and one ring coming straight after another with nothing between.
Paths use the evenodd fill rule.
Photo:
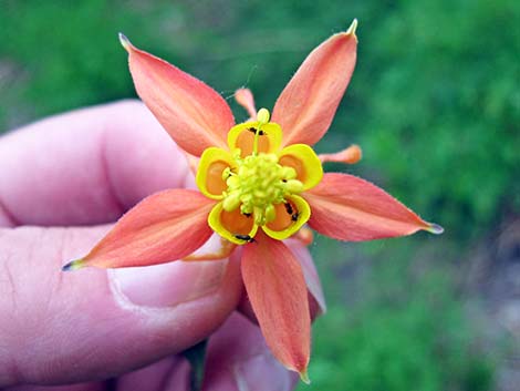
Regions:
<instances>
[{"instance_id":1,"label":"yellow flower centre with five rounded inner petals and stamens","mask_svg":"<svg viewBox=\"0 0 520 391\"><path fill-rule=\"evenodd\" d=\"M225 239L243 245L261 228L282 240L309 220L309 204L299 194L322 179L320 158L306 144L280 150L281 141L280 125L269 122L269 112L261 109L257 121L229 131L229 151L209 147L202 153L197 186L219 200L208 224Z\"/></svg>"}]
</instances>

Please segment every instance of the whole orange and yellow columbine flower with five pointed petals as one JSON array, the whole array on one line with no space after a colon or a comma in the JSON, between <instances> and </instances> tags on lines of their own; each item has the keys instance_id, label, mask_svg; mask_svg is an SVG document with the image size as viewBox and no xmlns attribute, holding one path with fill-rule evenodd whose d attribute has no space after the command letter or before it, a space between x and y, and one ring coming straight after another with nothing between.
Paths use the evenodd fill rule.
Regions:
<instances>
[{"instance_id":1,"label":"whole orange and yellow columbine flower with five pointed petals","mask_svg":"<svg viewBox=\"0 0 520 391\"><path fill-rule=\"evenodd\" d=\"M257 113L249 90L237 91L251 116L238 125L216 91L121 35L137 93L191 162L200 157L200 192L169 189L145 198L64 269L209 260L241 246L243 282L267 343L305 380L308 291L300 264L281 240L299 230L304 236L305 223L340 240L441 231L366 181L323 174L322 162L354 163L358 147L320 156L310 147L329 128L351 79L356 24L309 54L274 104L272 122L266 109ZM221 250L193 255L214 231Z\"/></svg>"}]
</instances>

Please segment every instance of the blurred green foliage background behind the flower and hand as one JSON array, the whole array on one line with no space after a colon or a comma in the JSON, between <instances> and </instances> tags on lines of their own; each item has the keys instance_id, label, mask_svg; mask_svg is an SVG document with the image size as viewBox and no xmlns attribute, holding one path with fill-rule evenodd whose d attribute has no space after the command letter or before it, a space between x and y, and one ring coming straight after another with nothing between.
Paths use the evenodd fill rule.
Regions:
<instances>
[{"instance_id":1,"label":"blurred green foliage background behind the flower and hand","mask_svg":"<svg viewBox=\"0 0 520 391\"><path fill-rule=\"evenodd\" d=\"M360 27L358 62L319 152L440 237L312 245L329 312L299 390L518 390L520 2L0 0L0 130L135 96L117 32L232 103L273 102L322 40Z\"/></svg>"}]
</instances>

